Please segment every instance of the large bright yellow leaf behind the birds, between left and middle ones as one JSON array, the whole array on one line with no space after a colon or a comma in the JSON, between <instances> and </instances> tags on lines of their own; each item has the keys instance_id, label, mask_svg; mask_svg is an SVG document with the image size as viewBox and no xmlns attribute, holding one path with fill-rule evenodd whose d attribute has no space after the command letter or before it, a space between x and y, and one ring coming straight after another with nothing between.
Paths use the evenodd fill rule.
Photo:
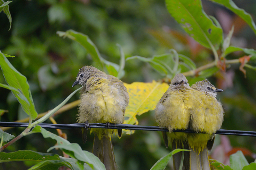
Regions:
<instances>
[{"instance_id":1,"label":"large bright yellow leaf behind the birds, between left and middle ones","mask_svg":"<svg viewBox=\"0 0 256 170\"><path fill-rule=\"evenodd\" d=\"M130 102L124 114L124 124L138 124L136 115L141 115L149 110L155 110L156 104L168 89L167 83L152 81L151 83L133 82L124 83L127 88ZM132 134L134 131L124 130L126 134Z\"/></svg>"}]
</instances>

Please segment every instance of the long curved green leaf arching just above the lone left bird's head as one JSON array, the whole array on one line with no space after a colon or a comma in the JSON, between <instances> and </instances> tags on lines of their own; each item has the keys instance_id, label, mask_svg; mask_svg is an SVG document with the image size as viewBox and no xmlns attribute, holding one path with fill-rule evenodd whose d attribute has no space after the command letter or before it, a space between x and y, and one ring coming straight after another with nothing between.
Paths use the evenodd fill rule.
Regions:
<instances>
[{"instance_id":1,"label":"long curved green leaf arching just above the lone left bird's head","mask_svg":"<svg viewBox=\"0 0 256 170\"><path fill-rule=\"evenodd\" d=\"M120 66L116 63L112 63L102 58L98 48L87 35L76 32L74 30L68 30L66 32L58 31L57 34L60 37L68 37L72 40L79 42L87 50L87 52L91 54L92 60L95 62L96 67L98 67L100 70L107 72L108 74L117 77ZM113 71L113 69L115 69L115 71Z\"/></svg>"}]
</instances>

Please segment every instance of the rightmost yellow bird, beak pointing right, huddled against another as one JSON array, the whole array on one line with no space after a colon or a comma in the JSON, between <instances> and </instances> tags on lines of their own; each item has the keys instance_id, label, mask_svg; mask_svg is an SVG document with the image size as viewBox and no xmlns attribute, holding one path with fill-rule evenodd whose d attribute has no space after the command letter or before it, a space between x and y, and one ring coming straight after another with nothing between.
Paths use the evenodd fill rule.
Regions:
<instances>
[{"instance_id":1,"label":"rightmost yellow bird, beak pointing right, huddled against another","mask_svg":"<svg viewBox=\"0 0 256 170\"><path fill-rule=\"evenodd\" d=\"M208 150L212 149L214 133L220 129L223 122L223 108L216 99L216 89L207 79L198 81L191 86L195 89L195 110L191 111L189 128L205 134L189 133L187 135L190 152L191 170L210 170Z\"/></svg>"}]
</instances>

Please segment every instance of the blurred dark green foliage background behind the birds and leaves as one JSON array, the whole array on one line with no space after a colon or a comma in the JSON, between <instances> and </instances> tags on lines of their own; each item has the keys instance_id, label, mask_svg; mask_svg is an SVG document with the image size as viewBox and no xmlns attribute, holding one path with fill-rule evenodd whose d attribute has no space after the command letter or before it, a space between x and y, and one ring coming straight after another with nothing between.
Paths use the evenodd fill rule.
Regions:
<instances>
[{"instance_id":1,"label":"blurred dark green foliage background behind the birds and leaves","mask_svg":"<svg viewBox=\"0 0 256 170\"><path fill-rule=\"evenodd\" d=\"M256 1L234 2L250 13L255 21ZM235 25L231 45L255 49L256 37L242 19L222 6L209 1L202 3L204 11L218 19L225 35ZM116 44L122 46L125 58L134 55L152 57L174 48L178 53L189 56L197 67L214 60L211 51L200 46L182 30L161 0L15 0L9 6L12 15L10 31L6 15L0 13L0 50L16 56L8 60L27 77L38 113L61 103L74 90L71 85L79 68L92 65L90 55L79 43L59 37L57 31L73 29L88 35L102 56L115 63L119 63L120 59ZM241 56L243 53L233 53L227 59ZM222 129L256 131L256 72L246 69L245 78L238 69L239 66L229 65L226 72L219 71L209 77L209 80L217 88L224 90L218 94L225 112ZM124 70L122 81L126 83L150 82L164 78L148 63L139 60L128 60ZM5 83L2 74L0 82ZM27 117L9 90L0 88L0 96L0 109L9 111L1 116L1 121L13 122ZM79 93L70 102L77 99ZM75 123L76 113L77 108L74 108L54 118L58 124ZM139 125L157 125L154 111L137 118ZM7 132L17 136L21 131L22 129L13 128ZM56 133L56 130L50 131ZM78 143L84 150L92 152L93 135L89 135L86 144L83 144L80 129L63 132L67 134L70 142ZM236 149L241 149L244 153L248 152L246 158L252 162L255 159L253 153L256 152L255 139L217 135L212 157L228 164L227 156ZM44 139L41 134L32 134L21 138L5 152L46 152L54 144L52 139ZM158 159L171 151L171 148L164 147L161 133L151 131L135 131L132 135L123 135L121 139L114 137L113 145L119 169L150 169ZM52 152L62 155L58 150ZM28 169L34 164L2 163L0 169ZM166 169L170 169L171 164L170 162Z\"/></svg>"}]
</instances>

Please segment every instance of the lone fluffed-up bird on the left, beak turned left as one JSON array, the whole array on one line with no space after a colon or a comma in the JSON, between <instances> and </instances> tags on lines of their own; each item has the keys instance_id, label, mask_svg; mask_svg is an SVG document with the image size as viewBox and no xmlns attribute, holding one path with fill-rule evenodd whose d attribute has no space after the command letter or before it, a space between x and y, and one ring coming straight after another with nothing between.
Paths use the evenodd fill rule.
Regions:
<instances>
[{"instance_id":1,"label":"lone fluffed-up bird on the left, beak turned left","mask_svg":"<svg viewBox=\"0 0 256 170\"><path fill-rule=\"evenodd\" d=\"M90 123L110 123L122 124L124 122L125 109L129 103L129 96L123 81L115 76L108 75L92 66L82 67L76 77L76 84L83 86L80 95L78 109L78 123L85 123L83 128L83 142L87 138L87 128ZM115 132L119 137L122 129L96 129L92 153L100 158L107 170L117 169L113 145L112 134Z\"/></svg>"}]
</instances>

